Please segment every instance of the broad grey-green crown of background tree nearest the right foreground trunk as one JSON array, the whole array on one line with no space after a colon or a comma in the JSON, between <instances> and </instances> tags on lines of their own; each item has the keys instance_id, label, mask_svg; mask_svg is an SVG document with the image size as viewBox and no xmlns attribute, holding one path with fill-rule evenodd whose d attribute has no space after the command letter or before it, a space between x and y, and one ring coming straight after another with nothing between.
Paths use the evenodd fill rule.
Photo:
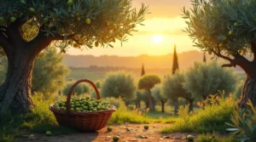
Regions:
<instances>
[{"instance_id":1,"label":"broad grey-green crown of background tree nearest the right foreground trunk","mask_svg":"<svg viewBox=\"0 0 256 142\"><path fill-rule=\"evenodd\" d=\"M235 71L222 68L216 61L205 63L195 62L186 72L183 88L194 98L207 98L208 94L217 94L225 90L228 94L236 87Z\"/></svg>"}]
</instances>

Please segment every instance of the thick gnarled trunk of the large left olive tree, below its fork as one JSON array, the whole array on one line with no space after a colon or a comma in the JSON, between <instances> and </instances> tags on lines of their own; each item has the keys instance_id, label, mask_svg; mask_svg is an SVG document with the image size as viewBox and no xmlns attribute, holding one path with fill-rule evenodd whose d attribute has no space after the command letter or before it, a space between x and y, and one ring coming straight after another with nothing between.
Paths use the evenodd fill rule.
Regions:
<instances>
[{"instance_id":1,"label":"thick gnarled trunk of the large left olive tree, below its fork","mask_svg":"<svg viewBox=\"0 0 256 142\"><path fill-rule=\"evenodd\" d=\"M1 104L10 111L26 113L32 106L32 69L35 57L20 46L8 57L8 72L0 87Z\"/></svg>"}]
</instances>

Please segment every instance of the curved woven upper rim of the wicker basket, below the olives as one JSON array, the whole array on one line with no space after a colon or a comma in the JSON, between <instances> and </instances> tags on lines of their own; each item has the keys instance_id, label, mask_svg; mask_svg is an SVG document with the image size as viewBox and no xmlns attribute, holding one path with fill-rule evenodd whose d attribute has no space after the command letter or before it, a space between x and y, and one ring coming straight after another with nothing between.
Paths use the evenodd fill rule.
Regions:
<instances>
[{"instance_id":1,"label":"curved woven upper rim of the wicker basket, below the olives","mask_svg":"<svg viewBox=\"0 0 256 142\"><path fill-rule=\"evenodd\" d=\"M56 103L56 102L55 102ZM51 105L49 105L49 110L53 111L55 113L59 113L59 114L66 114L67 115L67 111L63 111L63 110L58 110L55 109L54 105L55 103L52 103ZM110 110L101 110L101 111L81 111L81 112L77 112L77 111L70 111L68 113L68 115L79 115L79 116L85 116L85 115L96 115L96 114L101 114L101 113L113 113L114 111L116 111L116 107L114 105L112 105L113 107Z\"/></svg>"}]
</instances>

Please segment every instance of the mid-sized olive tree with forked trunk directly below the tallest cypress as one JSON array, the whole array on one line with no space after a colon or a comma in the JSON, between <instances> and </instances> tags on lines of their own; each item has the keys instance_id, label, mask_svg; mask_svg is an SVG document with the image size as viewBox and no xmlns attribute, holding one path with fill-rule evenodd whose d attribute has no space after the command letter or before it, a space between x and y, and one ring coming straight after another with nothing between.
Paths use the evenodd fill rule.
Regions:
<instances>
[{"instance_id":1,"label":"mid-sized olive tree with forked trunk directly below the tallest cypress","mask_svg":"<svg viewBox=\"0 0 256 142\"><path fill-rule=\"evenodd\" d=\"M193 111L194 98L183 88L184 73L176 71L175 75L168 75L163 81L162 94L167 99L174 100L176 103L178 98L184 98L189 101L189 111ZM178 104L174 104L175 113L178 110Z\"/></svg>"}]
</instances>

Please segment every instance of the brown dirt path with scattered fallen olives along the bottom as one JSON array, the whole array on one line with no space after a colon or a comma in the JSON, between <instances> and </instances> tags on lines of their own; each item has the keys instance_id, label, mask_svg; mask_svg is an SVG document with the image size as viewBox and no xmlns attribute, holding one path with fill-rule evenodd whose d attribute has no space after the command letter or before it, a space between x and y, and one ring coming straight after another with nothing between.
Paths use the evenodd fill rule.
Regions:
<instances>
[{"instance_id":1,"label":"brown dirt path with scattered fallen olives along the bottom","mask_svg":"<svg viewBox=\"0 0 256 142\"><path fill-rule=\"evenodd\" d=\"M143 128L144 124L113 125L113 131L108 132L107 128L94 133L73 133L60 136L45 136L44 134L31 133L27 138L19 138L18 142L112 142L114 135L119 136L119 142L186 142L183 139L188 134L197 136L196 133L157 133L160 128L168 124L149 124L148 130ZM145 139L137 138L145 137Z\"/></svg>"}]
</instances>

